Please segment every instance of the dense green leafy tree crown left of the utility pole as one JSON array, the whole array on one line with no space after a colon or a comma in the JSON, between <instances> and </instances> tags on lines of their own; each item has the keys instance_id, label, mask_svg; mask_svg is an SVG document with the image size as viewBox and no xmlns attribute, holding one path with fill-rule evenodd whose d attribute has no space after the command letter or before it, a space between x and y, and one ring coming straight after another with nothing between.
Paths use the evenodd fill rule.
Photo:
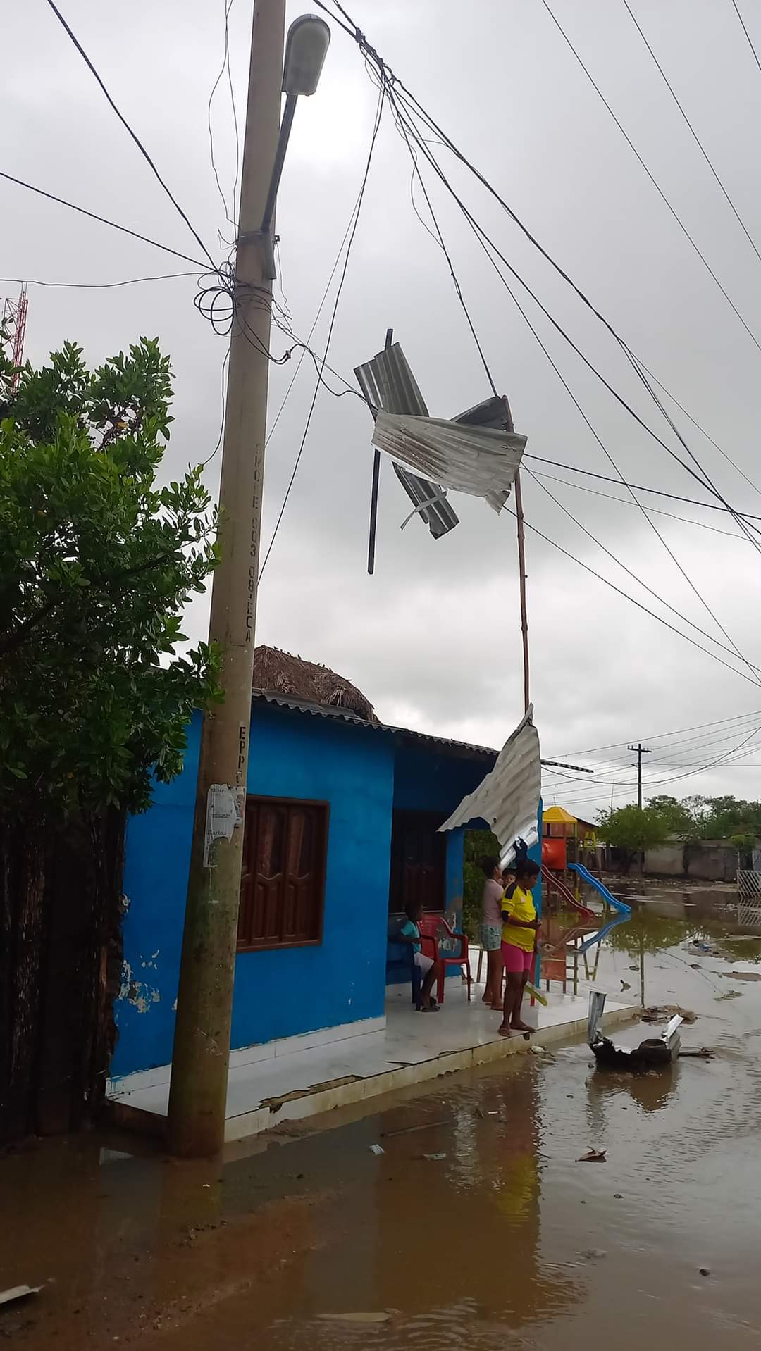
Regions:
<instances>
[{"instance_id":1,"label":"dense green leafy tree crown left of the utility pole","mask_svg":"<svg viewBox=\"0 0 761 1351\"><path fill-rule=\"evenodd\" d=\"M141 338L89 370L65 343L0 369L0 808L143 809L182 765L219 655L177 655L215 563L200 467L161 485L172 372Z\"/></svg>"}]
</instances>

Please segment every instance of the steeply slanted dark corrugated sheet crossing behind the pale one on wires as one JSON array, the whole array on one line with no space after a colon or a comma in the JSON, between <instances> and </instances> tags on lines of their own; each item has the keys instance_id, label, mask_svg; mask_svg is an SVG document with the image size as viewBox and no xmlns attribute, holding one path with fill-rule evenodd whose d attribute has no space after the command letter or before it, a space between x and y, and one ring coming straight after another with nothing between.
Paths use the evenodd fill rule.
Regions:
<instances>
[{"instance_id":1,"label":"steeply slanted dark corrugated sheet crossing behind the pale one on wires","mask_svg":"<svg viewBox=\"0 0 761 1351\"><path fill-rule=\"evenodd\" d=\"M373 409L389 413L414 413L426 417L428 409L399 343L378 351L372 361L354 367L360 389ZM418 478L393 461L393 471L418 515L434 539L441 539L458 524L460 517L446 500L443 488ZM426 505L427 504L427 505Z\"/></svg>"}]
</instances>

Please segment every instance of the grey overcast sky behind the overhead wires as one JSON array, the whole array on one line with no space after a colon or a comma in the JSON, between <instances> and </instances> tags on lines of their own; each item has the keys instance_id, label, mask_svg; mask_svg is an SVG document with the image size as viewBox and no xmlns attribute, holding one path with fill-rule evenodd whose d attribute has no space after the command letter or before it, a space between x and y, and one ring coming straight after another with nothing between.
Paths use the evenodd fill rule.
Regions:
<instances>
[{"instance_id":1,"label":"grey overcast sky behind the overhead wires","mask_svg":"<svg viewBox=\"0 0 761 1351\"><path fill-rule=\"evenodd\" d=\"M692 141L623 0L551 0L639 154L761 340L761 262ZM631 0L639 23L703 139L737 209L761 246L761 72L731 0ZM631 349L761 484L757 390L761 353L689 247L668 208L554 27L542 0L351 0L354 18L446 132L481 168L529 228ZM761 51L761 0L741 0ZM64 12L116 103L143 139L215 255L224 212L214 181L207 103L223 51L223 0L65 0ZM289 7L289 19L300 5ZM250 0L230 15L232 74L242 116ZM45 0L4 15L0 105L7 172L164 240L197 246L105 104ZM322 84L296 113L278 199L280 282L293 328L307 335L346 228L368 154L377 93L354 43L334 27ZM234 136L220 88L215 154L230 196ZM484 189L439 146L442 163L477 219L606 378L684 454L620 351ZM346 377L384 342L403 345L431 415L453 416L489 388L446 261L416 219L410 158L384 118L330 363ZM147 245L0 184L1 270L43 281L118 281L184 270ZM527 453L612 474L546 355L499 284L447 193L431 184L447 247L500 390ZM419 203L424 213L424 205ZM14 293L12 285L3 292ZM141 334L158 335L176 373L170 477L205 458L218 438L226 342L192 305L193 277L112 290L30 288L26 355L41 362L65 339L92 362ZM523 299L523 297L522 297ZM549 322L530 316L626 477L708 500L615 404ZM330 305L314 338L324 342ZM288 346L276 332L273 350ZM292 366L273 367L270 420ZM268 447L265 546L283 503L314 390L304 361ZM673 408L672 408L673 411ZM761 513L749 486L681 413L680 430L725 497ZM322 392L291 500L262 580L258 640L320 661L353 680L378 715L441 735L500 746L522 713L515 523L483 501L453 497L461 524L433 540L419 520L400 532L408 500L383 465L377 563L366 574L372 420L360 400ZM529 462L533 469L543 466ZM626 490L550 469L568 482ZM216 493L219 457L208 466ZM656 593L729 646L631 500L543 480ZM731 517L656 497L649 507L738 534ZM524 482L526 519L576 558L685 628L569 520L538 482ZM743 657L761 663L761 559L733 540L668 516L652 517ZM626 742L653 747L656 792L761 796L753 715L761 690L638 611L603 582L527 535L531 694L545 757L597 765L596 780L547 775L545 801L593 816L614 794L631 800ZM187 632L205 632L199 603ZM697 642L706 643L693 630ZM714 648L738 671L737 657ZM733 725L676 730L737 717ZM665 735L665 734L674 735ZM660 738L660 739L656 739ZM750 754L693 773L738 747ZM611 744L619 743L619 744ZM593 747L611 747L592 755ZM660 747L660 748L658 748ZM676 778L676 775L687 775Z\"/></svg>"}]
</instances>

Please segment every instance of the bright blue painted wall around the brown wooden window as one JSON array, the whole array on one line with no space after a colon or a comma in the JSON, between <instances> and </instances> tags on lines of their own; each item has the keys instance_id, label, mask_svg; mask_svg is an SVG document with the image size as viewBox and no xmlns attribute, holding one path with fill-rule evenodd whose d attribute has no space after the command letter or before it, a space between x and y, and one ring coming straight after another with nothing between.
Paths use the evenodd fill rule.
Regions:
<instances>
[{"instance_id":1,"label":"bright blue painted wall around the brown wooden window","mask_svg":"<svg viewBox=\"0 0 761 1351\"><path fill-rule=\"evenodd\" d=\"M128 825L114 1075L172 1058L199 736L196 719L182 774ZM330 802L324 928L319 946L239 954L232 1047L383 1015L393 758L381 734L254 707L249 792Z\"/></svg>"}]
</instances>

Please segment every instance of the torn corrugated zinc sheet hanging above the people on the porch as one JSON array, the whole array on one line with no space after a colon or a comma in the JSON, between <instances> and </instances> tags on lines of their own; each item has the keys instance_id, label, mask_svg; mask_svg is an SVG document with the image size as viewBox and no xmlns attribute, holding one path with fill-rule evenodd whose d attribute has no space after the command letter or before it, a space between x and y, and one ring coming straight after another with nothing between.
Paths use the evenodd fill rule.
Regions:
<instances>
[{"instance_id":1,"label":"torn corrugated zinc sheet hanging above the people on the porch","mask_svg":"<svg viewBox=\"0 0 761 1351\"><path fill-rule=\"evenodd\" d=\"M527 844L537 839L541 788L539 734L534 727L534 705L530 704L499 753L495 767L484 775L478 788L462 798L439 831L451 831L476 819L487 821L500 843L504 865L514 852L518 836Z\"/></svg>"}]
</instances>

